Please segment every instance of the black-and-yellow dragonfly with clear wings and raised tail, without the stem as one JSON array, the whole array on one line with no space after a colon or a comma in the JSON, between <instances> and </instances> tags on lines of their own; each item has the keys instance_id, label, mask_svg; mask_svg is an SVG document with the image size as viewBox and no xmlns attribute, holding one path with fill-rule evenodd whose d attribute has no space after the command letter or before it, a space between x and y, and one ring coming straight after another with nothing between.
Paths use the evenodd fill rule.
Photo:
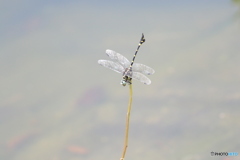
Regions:
<instances>
[{"instance_id":1,"label":"black-and-yellow dragonfly with clear wings and raised tail, without the stem","mask_svg":"<svg viewBox=\"0 0 240 160\"><path fill-rule=\"evenodd\" d=\"M132 78L136 79L146 85L151 84L151 80L145 75L152 75L155 71L151 67L148 67L144 64L134 63L136 55L140 46L145 42L144 34L140 39L138 44L137 50L133 56L132 62L113 50L107 49L106 54L107 56L112 59L110 60L98 60L98 64L108 69L111 69L115 72L122 74L121 85L126 86L126 84L132 84Z\"/></svg>"}]
</instances>

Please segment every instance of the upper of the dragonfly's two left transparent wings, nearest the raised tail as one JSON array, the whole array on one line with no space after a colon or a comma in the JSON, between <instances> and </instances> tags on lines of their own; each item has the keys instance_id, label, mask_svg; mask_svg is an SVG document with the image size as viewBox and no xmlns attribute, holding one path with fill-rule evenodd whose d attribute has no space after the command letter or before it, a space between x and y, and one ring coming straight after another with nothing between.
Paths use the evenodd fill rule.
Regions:
<instances>
[{"instance_id":1,"label":"upper of the dragonfly's two left transparent wings, nearest the raised tail","mask_svg":"<svg viewBox=\"0 0 240 160\"><path fill-rule=\"evenodd\" d=\"M115 62L121 64L124 68L128 68L130 66L130 62L129 60L124 57L123 55L112 51L110 49L106 50L106 54L108 55L108 57L110 57L112 60L114 60Z\"/></svg>"}]
</instances>

